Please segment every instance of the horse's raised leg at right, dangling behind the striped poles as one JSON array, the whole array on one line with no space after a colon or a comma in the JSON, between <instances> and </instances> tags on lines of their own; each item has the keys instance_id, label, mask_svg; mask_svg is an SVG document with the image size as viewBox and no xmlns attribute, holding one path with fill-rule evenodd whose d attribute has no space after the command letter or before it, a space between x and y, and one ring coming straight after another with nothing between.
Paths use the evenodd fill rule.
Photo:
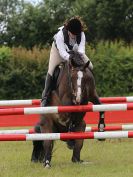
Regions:
<instances>
[{"instance_id":1,"label":"horse's raised leg at right, dangling behind the striped poles","mask_svg":"<svg viewBox=\"0 0 133 177\"><path fill-rule=\"evenodd\" d=\"M101 104L96 91L94 92L94 96L92 97L91 101L93 104L96 104L96 105ZM100 115L99 115L98 131L103 132L105 128L104 111L99 112L99 114Z\"/></svg>"}]
</instances>

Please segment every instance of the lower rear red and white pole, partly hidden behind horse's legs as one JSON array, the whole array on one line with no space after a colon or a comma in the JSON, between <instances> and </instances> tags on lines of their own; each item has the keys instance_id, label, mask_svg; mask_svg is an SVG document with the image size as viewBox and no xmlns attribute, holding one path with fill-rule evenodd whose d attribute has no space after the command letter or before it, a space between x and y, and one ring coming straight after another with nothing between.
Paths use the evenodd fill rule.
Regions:
<instances>
[{"instance_id":1,"label":"lower rear red and white pole, partly hidden behind horse's legs","mask_svg":"<svg viewBox=\"0 0 133 177\"><path fill-rule=\"evenodd\" d=\"M115 125L115 126L106 126L105 131L127 131L133 130L133 125ZM86 132L96 132L98 131L97 127L86 127ZM34 128L32 129L20 129L20 130L0 130L0 134L32 134L35 133Z\"/></svg>"}]
</instances>

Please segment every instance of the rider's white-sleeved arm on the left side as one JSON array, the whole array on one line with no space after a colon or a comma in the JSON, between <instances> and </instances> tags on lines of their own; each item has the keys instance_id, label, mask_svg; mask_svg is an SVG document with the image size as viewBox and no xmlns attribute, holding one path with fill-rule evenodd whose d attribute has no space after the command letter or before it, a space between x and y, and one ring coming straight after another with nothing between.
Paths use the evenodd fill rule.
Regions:
<instances>
[{"instance_id":1,"label":"rider's white-sleeved arm on the left side","mask_svg":"<svg viewBox=\"0 0 133 177\"><path fill-rule=\"evenodd\" d=\"M69 60L69 56L70 55L66 51L66 46L65 46L65 43L64 43L64 36L63 36L62 30L60 30L56 34L56 36L54 37L54 39L55 39L56 46L57 46L57 49L59 51L60 56L64 60Z\"/></svg>"}]
</instances>

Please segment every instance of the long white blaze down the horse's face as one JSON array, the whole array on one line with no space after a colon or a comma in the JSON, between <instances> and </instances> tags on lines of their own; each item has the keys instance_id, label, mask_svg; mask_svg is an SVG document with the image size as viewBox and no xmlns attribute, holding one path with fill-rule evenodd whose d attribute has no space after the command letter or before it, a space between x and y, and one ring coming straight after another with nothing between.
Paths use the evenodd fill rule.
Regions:
<instances>
[{"instance_id":1,"label":"long white blaze down the horse's face","mask_svg":"<svg viewBox=\"0 0 133 177\"><path fill-rule=\"evenodd\" d=\"M83 72L78 71L78 79L77 79L77 94L76 94L76 102L80 103L81 100L81 81L83 77Z\"/></svg>"}]
</instances>

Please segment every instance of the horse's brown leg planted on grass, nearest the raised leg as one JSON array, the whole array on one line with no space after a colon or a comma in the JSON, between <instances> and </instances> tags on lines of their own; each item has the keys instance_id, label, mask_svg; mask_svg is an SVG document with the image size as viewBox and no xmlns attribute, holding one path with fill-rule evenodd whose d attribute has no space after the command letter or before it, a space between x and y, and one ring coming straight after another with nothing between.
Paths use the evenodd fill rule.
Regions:
<instances>
[{"instance_id":1,"label":"horse's brown leg planted on grass, nearest the raised leg","mask_svg":"<svg viewBox=\"0 0 133 177\"><path fill-rule=\"evenodd\" d=\"M86 124L84 121L82 121L78 127L75 127L75 132L85 132L85 128L86 128ZM82 160L80 160L80 152L83 147L83 143L84 143L83 139L75 140L72 162L82 162Z\"/></svg>"}]
</instances>

